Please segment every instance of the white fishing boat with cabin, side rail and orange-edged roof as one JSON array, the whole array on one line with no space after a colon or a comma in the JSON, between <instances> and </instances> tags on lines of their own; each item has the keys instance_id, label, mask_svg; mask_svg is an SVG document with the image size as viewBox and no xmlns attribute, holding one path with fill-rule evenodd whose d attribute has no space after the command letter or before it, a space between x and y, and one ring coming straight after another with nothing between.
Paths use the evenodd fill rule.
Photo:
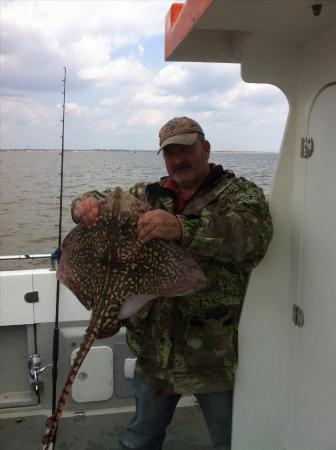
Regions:
<instances>
[{"instance_id":1,"label":"white fishing boat with cabin, side rail and orange-edged roof","mask_svg":"<svg viewBox=\"0 0 336 450\"><path fill-rule=\"evenodd\" d=\"M277 86L289 103L270 194L274 237L240 321L232 450L336 449L335 55L332 0L188 0L167 12L167 60L240 64L244 81ZM55 270L1 272L0 289L0 442L36 449L51 408ZM59 320L61 387L88 320L64 287ZM117 448L134 408L133 368L123 329L99 341L56 448ZM186 397L165 449L189 448L211 445Z\"/></svg>"}]
</instances>

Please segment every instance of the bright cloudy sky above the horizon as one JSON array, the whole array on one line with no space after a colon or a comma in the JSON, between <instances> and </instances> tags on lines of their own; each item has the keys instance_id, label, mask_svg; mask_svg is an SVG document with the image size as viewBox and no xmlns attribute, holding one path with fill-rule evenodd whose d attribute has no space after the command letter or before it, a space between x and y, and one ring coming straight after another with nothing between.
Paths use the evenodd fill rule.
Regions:
<instances>
[{"instance_id":1,"label":"bright cloudy sky above the horizon","mask_svg":"<svg viewBox=\"0 0 336 450\"><path fill-rule=\"evenodd\" d=\"M0 148L156 150L189 116L212 149L277 152L288 104L239 64L164 61L161 0L0 0Z\"/></svg>"}]
</instances>

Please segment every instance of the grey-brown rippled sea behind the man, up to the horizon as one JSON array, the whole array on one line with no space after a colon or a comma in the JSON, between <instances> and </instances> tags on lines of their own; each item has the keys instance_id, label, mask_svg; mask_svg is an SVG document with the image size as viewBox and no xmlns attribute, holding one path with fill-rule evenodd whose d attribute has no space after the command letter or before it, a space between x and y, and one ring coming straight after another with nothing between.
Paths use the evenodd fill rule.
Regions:
<instances>
[{"instance_id":1,"label":"grey-brown rippled sea behind the man, up to the horizon","mask_svg":"<svg viewBox=\"0 0 336 450\"><path fill-rule=\"evenodd\" d=\"M277 153L212 152L211 162L248 178L269 195ZM52 253L58 246L61 154L53 150L0 151L0 256ZM65 150L62 237L73 228L70 205L88 190L129 188L166 175L162 155L142 150ZM0 261L0 270L47 267L36 260Z\"/></svg>"}]
</instances>

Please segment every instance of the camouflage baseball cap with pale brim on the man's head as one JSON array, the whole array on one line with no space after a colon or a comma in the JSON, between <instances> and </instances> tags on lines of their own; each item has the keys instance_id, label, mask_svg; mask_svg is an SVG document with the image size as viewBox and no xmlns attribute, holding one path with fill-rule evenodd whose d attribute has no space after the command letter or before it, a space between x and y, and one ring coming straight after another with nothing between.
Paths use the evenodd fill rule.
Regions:
<instances>
[{"instance_id":1,"label":"camouflage baseball cap with pale brim on the man's head","mask_svg":"<svg viewBox=\"0 0 336 450\"><path fill-rule=\"evenodd\" d=\"M169 120L159 132L160 151L169 144L192 145L198 134L204 136L199 123L189 117L174 117Z\"/></svg>"}]
</instances>

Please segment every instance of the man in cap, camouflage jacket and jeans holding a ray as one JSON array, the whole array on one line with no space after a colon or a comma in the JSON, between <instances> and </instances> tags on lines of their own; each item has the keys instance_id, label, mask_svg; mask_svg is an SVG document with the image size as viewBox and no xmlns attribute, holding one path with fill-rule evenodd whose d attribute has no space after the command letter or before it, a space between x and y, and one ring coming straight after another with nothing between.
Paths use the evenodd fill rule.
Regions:
<instances>
[{"instance_id":1,"label":"man in cap, camouflage jacket and jeans holding a ray","mask_svg":"<svg viewBox=\"0 0 336 450\"><path fill-rule=\"evenodd\" d=\"M210 143L196 121L174 118L159 136L168 177L130 190L152 206L138 221L139 240L178 241L202 266L207 286L174 301L149 302L128 320L127 341L137 357L136 413L120 448L161 449L181 394L194 394L214 447L228 450L238 322L272 221L259 187L209 164ZM74 202L75 221L95 226L99 195Z\"/></svg>"}]
</instances>

